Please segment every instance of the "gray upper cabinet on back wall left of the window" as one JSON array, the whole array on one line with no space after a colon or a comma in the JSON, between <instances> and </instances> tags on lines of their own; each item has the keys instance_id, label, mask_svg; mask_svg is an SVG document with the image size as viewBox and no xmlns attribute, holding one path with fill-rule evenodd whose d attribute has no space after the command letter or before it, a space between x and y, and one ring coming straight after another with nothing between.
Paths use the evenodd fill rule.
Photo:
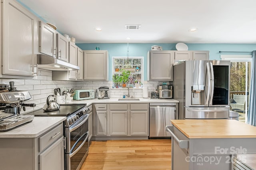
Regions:
<instances>
[{"instance_id":1,"label":"gray upper cabinet on back wall left of the window","mask_svg":"<svg viewBox=\"0 0 256 170\"><path fill-rule=\"evenodd\" d=\"M84 51L84 80L108 80L108 51Z\"/></svg>"}]
</instances>

